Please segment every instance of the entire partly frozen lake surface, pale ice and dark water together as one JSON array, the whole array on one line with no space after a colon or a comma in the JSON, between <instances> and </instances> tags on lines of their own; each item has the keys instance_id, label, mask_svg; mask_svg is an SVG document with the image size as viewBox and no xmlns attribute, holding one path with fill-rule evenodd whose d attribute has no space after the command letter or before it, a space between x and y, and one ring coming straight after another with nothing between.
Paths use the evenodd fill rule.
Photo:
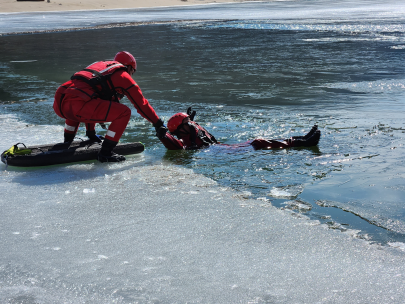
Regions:
<instances>
[{"instance_id":1,"label":"entire partly frozen lake surface, pale ice and dark water together","mask_svg":"<svg viewBox=\"0 0 405 304\"><path fill-rule=\"evenodd\" d=\"M134 113L123 140L147 149L124 163L1 164L0 302L402 303L403 13L280 1L1 14L3 34L235 20L0 37L0 151L60 141L55 88L117 45L137 50L135 79L166 121L193 103L226 143L313 123L323 135L319 151L169 153Z\"/></svg>"}]
</instances>

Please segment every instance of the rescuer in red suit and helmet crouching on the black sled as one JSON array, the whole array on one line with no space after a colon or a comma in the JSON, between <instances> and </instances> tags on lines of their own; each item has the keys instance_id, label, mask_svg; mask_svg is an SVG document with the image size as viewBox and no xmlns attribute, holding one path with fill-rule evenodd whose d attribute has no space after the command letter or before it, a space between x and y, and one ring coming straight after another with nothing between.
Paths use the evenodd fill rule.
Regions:
<instances>
[{"instance_id":1,"label":"rescuer in red suit and helmet crouching on the black sled","mask_svg":"<svg viewBox=\"0 0 405 304\"><path fill-rule=\"evenodd\" d=\"M136 60L128 52L119 52L113 61L98 61L75 73L56 91L53 108L65 119L65 142L73 141L81 122L86 136L102 142L97 159L100 162L120 162L125 157L113 152L129 119L131 110L119 103L127 96L137 112L158 130L165 127L141 89L132 79ZM96 123L111 122L104 141L96 135Z\"/></svg>"}]
</instances>

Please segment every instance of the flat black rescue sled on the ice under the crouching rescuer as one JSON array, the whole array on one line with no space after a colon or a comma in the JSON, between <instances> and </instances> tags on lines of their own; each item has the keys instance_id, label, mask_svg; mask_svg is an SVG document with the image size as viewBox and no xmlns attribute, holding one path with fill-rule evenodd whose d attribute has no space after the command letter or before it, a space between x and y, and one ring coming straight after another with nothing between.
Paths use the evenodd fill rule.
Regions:
<instances>
[{"instance_id":1,"label":"flat black rescue sled on the ice under the crouching rescuer","mask_svg":"<svg viewBox=\"0 0 405 304\"><path fill-rule=\"evenodd\" d=\"M8 166L37 167L49 166L86 160L96 160L101 143L91 140L71 143L29 146L16 144L1 154L1 161ZM145 149L139 142L119 143L114 152L121 155L141 153Z\"/></svg>"}]
</instances>

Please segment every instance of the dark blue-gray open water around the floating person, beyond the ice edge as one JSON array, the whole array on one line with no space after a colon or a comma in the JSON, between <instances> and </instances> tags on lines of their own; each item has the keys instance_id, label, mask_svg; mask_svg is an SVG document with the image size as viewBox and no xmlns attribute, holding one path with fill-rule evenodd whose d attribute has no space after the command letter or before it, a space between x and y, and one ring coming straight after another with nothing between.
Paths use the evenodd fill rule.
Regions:
<instances>
[{"instance_id":1,"label":"dark blue-gray open water around the floating person, beyond the ice edge","mask_svg":"<svg viewBox=\"0 0 405 304\"><path fill-rule=\"evenodd\" d=\"M209 19L232 20L0 37L0 115L11 119L2 138L7 145L21 141L12 131L17 119L31 128L26 144L47 140L42 126L59 126L50 138L62 139L63 121L52 110L58 85L89 63L128 50L138 61L134 79L166 121L193 106L196 121L227 144L300 135L313 124L322 132L311 149L166 151L134 110L122 140L145 143L145 165L163 163L162 175L164 166L192 169L239 197L295 210L371 243L405 242L404 6L291 1L145 10L139 18L112 11L107 20L122 21L124 13L127 22L202 20L209 12ZM91 21L80 25L97 25L98 14L105 12L80 13ZM57 28L67 15L44 19L55 18ZM8 24L9 32L19 31ZM52 180L47 176L61 169L7 170L22 186L41 185L36 179L69 184L82 172L68 169Z\"/></svg>"}]
</instances>

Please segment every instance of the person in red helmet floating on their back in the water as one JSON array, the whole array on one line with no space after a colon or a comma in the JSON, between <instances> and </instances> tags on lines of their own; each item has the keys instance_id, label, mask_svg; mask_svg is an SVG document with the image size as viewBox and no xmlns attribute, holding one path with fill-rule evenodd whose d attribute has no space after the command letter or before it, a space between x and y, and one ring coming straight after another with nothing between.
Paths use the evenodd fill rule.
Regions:
<instances>
[{"instance_id":1,"label":"person in red helmet floating on their back in the water","mask_svg":"<svg viewBox=\"0 0 405 304\"><path fill-rule=\"evenodd\" d=\"M219 144L215 137L206 129L193 121L195 111L188 108L187 113L177 113L167 121L167 128L157 129L156 136L169 150L191 150ZM175 135L176 137L174 137ZM304 136L293 136L288 139L254 139L245 143L227 145L230 147L252 146L259 149L285 149L293 147L316 146L321 137L321 131L314 125L308 134Z\"/></svg>"}]
</instances>

